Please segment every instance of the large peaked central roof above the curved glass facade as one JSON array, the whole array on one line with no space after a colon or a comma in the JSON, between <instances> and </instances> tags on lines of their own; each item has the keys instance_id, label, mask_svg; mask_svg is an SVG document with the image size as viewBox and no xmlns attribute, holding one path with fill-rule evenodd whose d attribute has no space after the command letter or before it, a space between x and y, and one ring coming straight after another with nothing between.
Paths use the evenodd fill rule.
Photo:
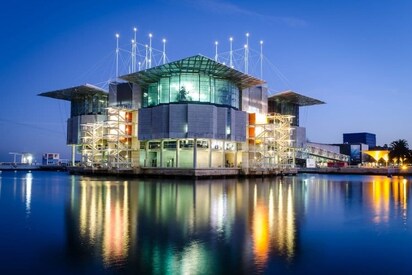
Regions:
<instances>
[{"instance_id":1,"label":"large peaked central roof above the curved glass facade","mask_svg":"<svg viewBox=\"0 0 412 275\"><path fill-rule=\"evenodd\" d=\"M195 55L178 61L173 61L157 67L124 75L120 78L129 82L137 83L141 86L146 86L150 83L157 82L164 76L179 73L198 72L228 79L234 82L240 89L265 83L261 79L242 73L202 55Z\"/></svg>"}]
</instances>

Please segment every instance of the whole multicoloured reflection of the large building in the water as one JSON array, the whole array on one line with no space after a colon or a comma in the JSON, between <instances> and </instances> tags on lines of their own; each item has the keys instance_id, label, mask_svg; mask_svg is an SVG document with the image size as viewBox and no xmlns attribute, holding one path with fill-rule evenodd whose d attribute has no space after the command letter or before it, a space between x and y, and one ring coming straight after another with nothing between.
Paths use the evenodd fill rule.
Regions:
<instances>
[{"instance_id":1,"label":"whole multicoloured reflection of the large building in the water","mask_svg":"<svg viewBox=\"0 0 412 275\"><path fill-rule=\"evenodd\" d=\"M295 178L73 182L71 249L131 272L264 270L269 261L293 260L303 192Z\"/></svg>"}]
</instances>

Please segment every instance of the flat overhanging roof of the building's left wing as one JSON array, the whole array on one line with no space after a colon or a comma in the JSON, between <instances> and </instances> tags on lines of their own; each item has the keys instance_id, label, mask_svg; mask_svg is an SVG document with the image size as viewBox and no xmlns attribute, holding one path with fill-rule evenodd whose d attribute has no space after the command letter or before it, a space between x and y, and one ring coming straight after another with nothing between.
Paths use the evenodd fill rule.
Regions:
<instances>
[{"instance_id":1,"label":"flat overhanging roof of the building's left wing","mask_svg":"<svg viewBox=\"0 0 412 275\"><path fill-rule=\"evenodd\" d=\"M56 99L72 101L73 99L82 99L86 96L108 96L107 91L91 84L84 84L72 88L55 90L39 94L39 96L51 97Z\"/></svg>"}]
</instances>

